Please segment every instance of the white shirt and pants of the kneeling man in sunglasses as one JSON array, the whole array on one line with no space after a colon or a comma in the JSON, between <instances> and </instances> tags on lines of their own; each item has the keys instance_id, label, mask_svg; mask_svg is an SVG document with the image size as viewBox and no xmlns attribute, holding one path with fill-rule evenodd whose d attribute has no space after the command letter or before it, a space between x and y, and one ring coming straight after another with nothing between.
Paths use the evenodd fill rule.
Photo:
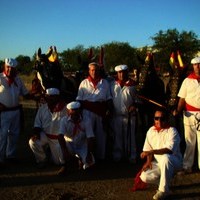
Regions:
<instances>
[{"instance_id":1,"label":"white shirt and pants of the kneeling man in sunglasses","mask_svg":"<svg viewBox=\"0 0 200 200\"><path fill-rule=\"evenodd\" d=\"M157 131L152 126L146 135L143 151L168 148L172 154L154 154L152 169L143 171L140 178L145 183L159 185L158 190L169 192L170 181L174 173L182 168L182 155L180 153L180 137L174 127Z\"/></svg>"}]
</instances>

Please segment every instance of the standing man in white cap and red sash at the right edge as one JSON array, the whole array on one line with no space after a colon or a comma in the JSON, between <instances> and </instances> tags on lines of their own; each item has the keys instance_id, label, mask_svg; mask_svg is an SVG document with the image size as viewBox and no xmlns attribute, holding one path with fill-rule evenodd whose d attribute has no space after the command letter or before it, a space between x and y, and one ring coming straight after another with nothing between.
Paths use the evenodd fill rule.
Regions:
<instances>
[{"instance_id":1,"label":"standing man in white cap and red sash at the right edge","mask_svg":"<svg viewBox=\"0 0 200 200\"><path fill-rule=\"evenodd\" d=\"M179 102L174 115L183 111L186 149L182 173L191 173L197 142L198 167L200 169L200 57L191 60L193 72L186 77L178 93Z\"/></svg>"}]
</instances>

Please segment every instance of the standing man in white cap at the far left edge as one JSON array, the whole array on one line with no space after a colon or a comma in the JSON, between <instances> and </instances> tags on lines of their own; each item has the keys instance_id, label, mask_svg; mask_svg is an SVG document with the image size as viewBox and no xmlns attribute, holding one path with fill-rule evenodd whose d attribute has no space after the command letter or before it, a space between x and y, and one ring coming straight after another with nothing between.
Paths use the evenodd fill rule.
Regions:
<instances>
[{"instance_id":1,"label":"standing man in white cap at the far left edge","mask_svg":"<svg viewBox=\"0 0 200 200\"><path fill-rule=\"evenodd\" d=\"M17 76L17 61L6 58L0 73L0 167L5 159L16 160L17 140L20 132L19 97L30 97L22 80Z\"/></svg>"}]
</instances>

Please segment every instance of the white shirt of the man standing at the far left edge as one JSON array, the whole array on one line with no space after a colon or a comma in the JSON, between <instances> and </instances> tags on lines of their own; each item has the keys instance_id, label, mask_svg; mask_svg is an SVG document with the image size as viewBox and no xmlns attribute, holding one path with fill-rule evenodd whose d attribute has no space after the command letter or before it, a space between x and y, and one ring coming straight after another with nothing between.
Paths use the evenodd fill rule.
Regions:
<instances>
[{"instance_id":1,"label":"white shirt of the man standing at the far left edge","mask_svg":"<svg viewBox=\"0 0 200 200\"><path fill-rule=\"evenodd\" d=\"M17 76L10 86L4 73L0 73L0 102L6 107L19 105L19 97L28 94L22 80Z\"/></svg>"}]
</instances>

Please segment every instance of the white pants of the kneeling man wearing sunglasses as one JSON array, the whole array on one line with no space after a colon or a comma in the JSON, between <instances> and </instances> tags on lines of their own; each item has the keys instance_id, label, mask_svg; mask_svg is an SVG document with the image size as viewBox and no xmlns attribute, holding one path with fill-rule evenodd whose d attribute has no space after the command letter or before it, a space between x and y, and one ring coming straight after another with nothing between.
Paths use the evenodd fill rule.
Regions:
<instances>
[{"instance_id":1,"label":"white pants of the kneeling man wearing sunglasses","mask_svg":"<svg viewBox=\"0 0 200 200\"><path fill-rule=\"evenodd\" d=\"M182 162L170 154L160 155L157 161L152 162L152 169L143 171L140 178L145 183L158 184L158 190L169 192L169 186L174 173L181 169Z\"/></svg>"}]
</instances>

